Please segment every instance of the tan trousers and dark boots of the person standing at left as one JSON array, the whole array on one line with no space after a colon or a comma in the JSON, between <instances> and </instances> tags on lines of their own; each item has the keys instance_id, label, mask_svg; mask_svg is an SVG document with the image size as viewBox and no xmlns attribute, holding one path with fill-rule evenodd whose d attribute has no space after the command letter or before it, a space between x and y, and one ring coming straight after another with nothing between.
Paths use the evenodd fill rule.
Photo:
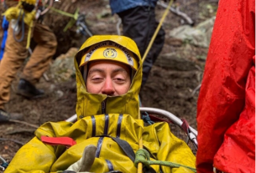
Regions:
<instances>
[{"instance_id":1,"label":"tan trousers and dark boots of the person standing at left","mask_svg":"<svg viewBox=\"0 0 256 173\"><path fill-rule=\"evenodd\" d=\"M0 123L21 117L20 114L8 114L5 111L4 105L10 99L10 86L17 71L22 67L24 60L28 57L28 49L26 48L28 33L29 27L25 24L24 38L18 42L17 39L22 37L22 31L13 36L12 26L10 25L8 28L8 38L3 59L0 62ZM40 77L49 67L50 60L55 54L57 47L55 34L43 23L35 21L31 33L31 37L34 38L37 46L34 48L29 61L25 64L18 84L18 94L24 95L29 99L44 94L44 91L36 89L34 84L39 82Z\"/></svg>"}]
</instances>

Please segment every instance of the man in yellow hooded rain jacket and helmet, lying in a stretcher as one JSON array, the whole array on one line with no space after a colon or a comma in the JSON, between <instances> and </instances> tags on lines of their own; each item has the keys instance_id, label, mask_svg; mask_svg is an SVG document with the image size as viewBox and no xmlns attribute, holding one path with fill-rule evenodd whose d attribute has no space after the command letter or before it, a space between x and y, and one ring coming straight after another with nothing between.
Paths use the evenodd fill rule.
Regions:
<instances>
[{"instance_id":1,"label":"man in yellow hooded rain jacket and helmet, lying in a stretcher","mask_svg":"<svg viewBox=\"0 0 256 173\"><path fill-rule=\"evenodd\" d=\"M144 127L138 120L141 57L130 38L88 38L75 56L75 123L47 122L35 131L5 173L137 172L139 140L150 160L167 160L195 168L195 155L172 135L167 123ZM183 166L144 166L144 172L192 173Z\"/></svg>"}]
</instances>

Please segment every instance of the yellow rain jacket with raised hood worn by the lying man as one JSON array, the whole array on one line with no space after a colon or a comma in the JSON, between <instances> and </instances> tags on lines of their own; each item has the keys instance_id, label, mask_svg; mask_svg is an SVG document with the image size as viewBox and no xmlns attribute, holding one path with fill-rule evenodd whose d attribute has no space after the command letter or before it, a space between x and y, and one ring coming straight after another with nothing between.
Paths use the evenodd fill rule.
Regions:
<instances>
[{"instance_id":1,"label":"yellow rain jacket with raised hood worn by the lying man","mask_svg":"<svg viewBox=\"0 0 256 173\"><path fill-rule=\"evenodd\" d=\"M128 48L139 59L139 68L127 94L107 96L86 92L84 79L78 64L81 55L95 43L112 41ZM130 38L120 36L93 36L86 40L76 54L77 105L76 123L48 122L35 131L34 139L24 145L8 165L5 173L48 173L66 170L81 158L87 145L96 145L96 159L91 172L103 173L120 170L124 173L137 172L133 161L128 157L122 146L114 139L125 140L135 153L138 141L142 137L144 148L150 152L150 160L166 160L195 168L195 155L183 140L179 140L170 132L167 123L155 123L145 126L138 120L138 92L142 79L141 58L136 44ZM41 137L70 137L76 144L70 148L65 145L48 145ZM124 147L126 148L126 147ZM156 172L190 173L184 167L170 168L151 165Z\"/></svg>"}]
</instances>

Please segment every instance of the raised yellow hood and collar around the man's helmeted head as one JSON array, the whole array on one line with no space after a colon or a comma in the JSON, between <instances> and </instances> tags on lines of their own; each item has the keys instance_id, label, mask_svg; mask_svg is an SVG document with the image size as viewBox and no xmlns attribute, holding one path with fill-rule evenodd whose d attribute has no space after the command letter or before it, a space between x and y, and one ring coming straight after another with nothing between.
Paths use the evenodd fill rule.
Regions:
<instances>
[{"instance_id":1,"label":"raised yellow hood and collar around the man's helmeted head","mask_svg":"<svg viewBox=\"0 0 256 173\"><path fill-rule=\"evenodd\" d=\"M133 52L138 58L138 70L133 76L130 89L126 94L119 96L108 96L107 94L91 94L86 90L86 84L81 74L78 64L81 63L82 56L94 44L105 41L112 41L122 45ZM118 35L98 35L88 38L81 46L75 56L76 68L76 89L77 103L76 114L77 120L93 114L130 114L133 118L138 119L139 100L138 93L142 81L142 61L136 43L128 37Z\"/></svg>"}]
</instances>

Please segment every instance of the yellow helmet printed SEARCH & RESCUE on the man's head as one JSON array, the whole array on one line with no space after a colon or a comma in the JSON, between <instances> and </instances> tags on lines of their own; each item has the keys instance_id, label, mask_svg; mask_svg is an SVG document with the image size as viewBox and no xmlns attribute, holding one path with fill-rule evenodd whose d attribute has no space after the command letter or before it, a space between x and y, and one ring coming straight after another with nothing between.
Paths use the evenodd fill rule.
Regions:
<instances>
[{"instance_id":1,"label":"yellow helmet printed SEARCH & RESCUE on the man's head","mask_svg":"<svg viewBox=\"0 0 256 173\"><path fill-rule=\"evenodd\" d=\"M138 59L135 58L134 53L112 41L104 41L91 46L83 55L79 67L97 60L116 61L127 64L135 71L138 69Z\"/></svg>"}]
</instances>

